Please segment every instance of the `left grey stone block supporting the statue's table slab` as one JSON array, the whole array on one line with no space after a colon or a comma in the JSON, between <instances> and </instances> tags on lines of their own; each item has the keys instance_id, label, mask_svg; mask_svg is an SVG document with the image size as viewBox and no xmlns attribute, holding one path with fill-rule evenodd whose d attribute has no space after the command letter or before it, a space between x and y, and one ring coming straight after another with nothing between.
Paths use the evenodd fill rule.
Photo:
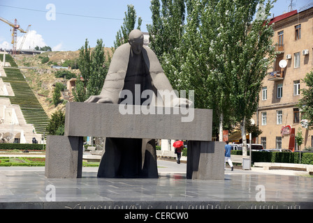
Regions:
<instances>
[{"instance_id":1,"label":"left grey stone block supporting the statue's table slab","mask_svg":"<svg viewBox=\"0 0 313 223\"><path fill-rule=\"evenodd\" d=\"M82 177L82 137L48 135L45 177Z\"/></svg>"}]
</instances>

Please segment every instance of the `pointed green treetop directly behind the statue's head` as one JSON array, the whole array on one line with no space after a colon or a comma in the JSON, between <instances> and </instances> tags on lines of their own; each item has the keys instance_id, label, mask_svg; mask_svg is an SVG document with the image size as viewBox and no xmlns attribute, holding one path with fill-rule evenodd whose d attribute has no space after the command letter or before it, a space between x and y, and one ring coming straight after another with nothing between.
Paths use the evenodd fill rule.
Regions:
<instances>
[{"instance_id":1,"label":"pointed green treetop directly behind the statue's head","mask_svg":"<svg viewBox=\"0 0 313 223\"><path fill-rule=\"evenodd\" d=\"M136 25L136 10L133 5L127 5L127 12L125 12L124 22L121 26L121 29L117 31L116 40L114 42L115 49L124 43L129 41L129 33L135 29ZM143 20L141 17L138 17L138 25L136 29L140 30Z\"/></svg>"}]
</instances>

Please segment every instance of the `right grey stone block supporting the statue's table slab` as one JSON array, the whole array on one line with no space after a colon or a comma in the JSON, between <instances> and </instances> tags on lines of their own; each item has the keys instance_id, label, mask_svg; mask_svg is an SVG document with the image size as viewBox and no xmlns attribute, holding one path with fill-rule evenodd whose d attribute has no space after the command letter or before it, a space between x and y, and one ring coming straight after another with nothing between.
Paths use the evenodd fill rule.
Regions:
<instances>
[{"instance_id":1,"label":"right grey stone block supporting the statue's table slab","mask_svg":"<svg viewBox=\"0 0 313 223\"><path fill-rule=\"evenodd\" d=\"M224 180L224 147L222 141L188 141L187 178Z\"/></svg>"}]
</instances>

